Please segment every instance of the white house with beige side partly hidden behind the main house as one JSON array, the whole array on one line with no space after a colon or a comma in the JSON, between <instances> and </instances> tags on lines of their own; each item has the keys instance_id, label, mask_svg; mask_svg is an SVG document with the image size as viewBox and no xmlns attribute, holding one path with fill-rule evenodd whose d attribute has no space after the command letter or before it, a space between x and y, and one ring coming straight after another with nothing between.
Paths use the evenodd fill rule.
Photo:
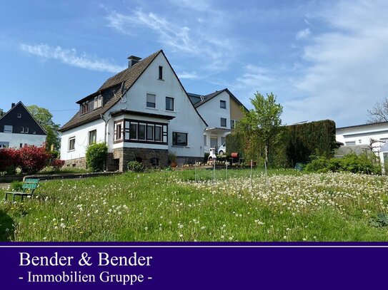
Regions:
<instances>
[{"instance_id":1,"label":"white house with beige side partly hidden behind the main house","mask_svg":"<svg viewBox=\"0 0 388 290\"><path fill-rule=\"evenodd\" d=\"M237 121L244 117L242 110L247 110L227 88L209 95L189 93L189 98L208 124L203 134L205 152L224 144Z\"/></svg>"}]
</instances>

